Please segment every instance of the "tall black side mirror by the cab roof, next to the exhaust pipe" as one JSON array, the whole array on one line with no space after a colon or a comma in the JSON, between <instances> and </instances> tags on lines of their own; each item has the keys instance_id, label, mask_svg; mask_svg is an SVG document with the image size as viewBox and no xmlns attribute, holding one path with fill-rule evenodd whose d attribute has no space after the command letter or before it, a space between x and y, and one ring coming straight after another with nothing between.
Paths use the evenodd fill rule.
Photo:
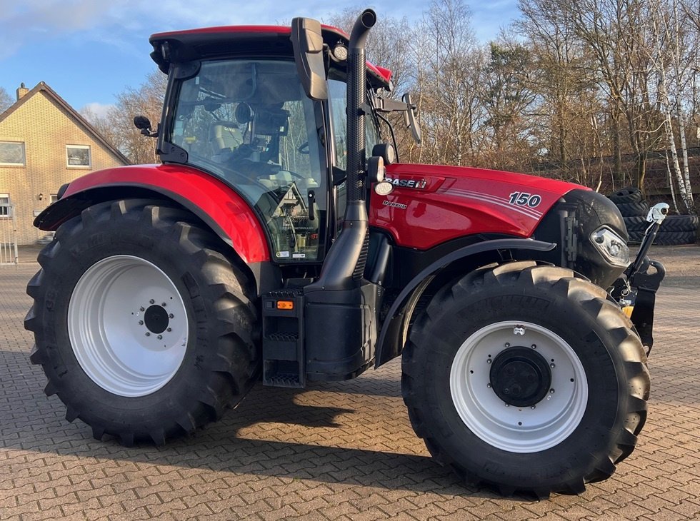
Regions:
<instances>
[{"instance_id":1,"label":"tall black side mirror by the cab roof, next to the exhaust pipe","mask_svg":"<svg viewBox=\"0 0 700 521\"><path fill-rule=\"evenodd\" d=\"M291 45L294 48L296 70L306 96L316 101L328 99L321 22L310 18L293 19Z\"/></svg>"}]
</instances>

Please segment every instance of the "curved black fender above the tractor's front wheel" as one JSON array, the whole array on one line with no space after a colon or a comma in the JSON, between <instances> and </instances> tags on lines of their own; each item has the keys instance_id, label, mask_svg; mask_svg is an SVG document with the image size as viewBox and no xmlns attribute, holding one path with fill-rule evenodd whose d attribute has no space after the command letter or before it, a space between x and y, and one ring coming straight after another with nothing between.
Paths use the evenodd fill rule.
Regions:
<instances>
[{"instance_id":1,"label":"curved black fender above the tractor's front wheel","mask_svg":"<svg viewBox=\"0 0 700 521\"><path fill-rule=\"evenodd\" d=\"M465 260L476 256L482 257L487 253L493 253L494 258L502 258L502 251L551 251L554 248L556 248L555 243L545 243L533 239L495 239L459 248L459 250L436 260L401 290L389 308L389 313L387 313L381 326L381 333L379 333L379 342L377 343L379 347L374 368L379 368L380 365L401 354L408 335L411 315L413 315L421 295L440 273L451 268L456 268L457 272L463 271L464 264L469 265L469 263L465 263Z\"/></svg>"}]
</instances>

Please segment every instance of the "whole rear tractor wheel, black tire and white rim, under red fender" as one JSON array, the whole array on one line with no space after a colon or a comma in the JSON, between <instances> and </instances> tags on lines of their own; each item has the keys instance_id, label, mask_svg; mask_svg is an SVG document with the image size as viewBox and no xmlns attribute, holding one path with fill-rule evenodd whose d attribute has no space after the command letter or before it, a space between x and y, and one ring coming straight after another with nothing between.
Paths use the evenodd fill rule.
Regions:
<instances>
[{"instance_id":1,"label":"whole rear tractor wheel, black tire and white rim, under red fender","mask_svg":"<svg viewBox=\"0 0 700 521\"><path fill-rule=\"evenodd\" d=\"M66 419L124 445L192 433L259 373L251 284L191 214L100 203L62 224L29 281L31 361Z\"/></svg>"}]
</instances>

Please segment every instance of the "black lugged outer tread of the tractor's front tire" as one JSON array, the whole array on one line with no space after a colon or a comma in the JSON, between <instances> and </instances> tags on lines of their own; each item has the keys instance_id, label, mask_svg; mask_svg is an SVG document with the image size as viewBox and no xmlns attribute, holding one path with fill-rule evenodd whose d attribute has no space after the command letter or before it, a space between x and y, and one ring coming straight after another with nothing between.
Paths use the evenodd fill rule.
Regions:
<instances>
[{"instance_id":1,"label":"black lugged outer tread of the tractor's front tire","mask_svg":"<svg viewBox=\"0 0 700 521\"><path fill-rule=\"evenodd\" d=\"M409 411L411 425L413 425L416 435L424 439L426 447L436 460L444 465L451 465L458 473L465 476L468 482L476 485L485 484L496 487L501 493L506 495L515 491L509 483L499 483L486 480L472 472L465 471L454 459L440 448L439 441L431 435L431 428L428 428L421 412L426 406L422 403L423 393L416 392L414 387L421 385L410 375L421 374L423 368L421 361L416 358L415 353L421 348L419 341L421 338L429 338L427 329L436 316L446 313L449 308L449 300L454 295L459 295L470 290L489 292L493 285L511 285L514 283L512 275L516 275L516 283L522 285L549 285L551 290L560 295L566 295L570 301L578 302L586 310L592 319L604 323L609 331L619 335L619 338L627 344L625 368L628 371L629 381L628 395L625 398L628 415L637 418L635 422L625 422L623 428L617 433L614 442L611 444L610 452L603 452L597 457L596 465L592 470L585 472L581 477L568 477L568 480L559 485L551 487L541 487L536 482L532 485L517 487L517 490L534 494L539 499L549 497L551 492L566 492L579 494L585 490L585 482L595 482L610 477L616 470L616 462L624 460L634 450L636 436L644 427L646 421L646 398L649 396L649 371L646 368L646 353L641 346L639 338L631 329L631 322L624 316L619 308L607 300L607 293L602 288L592 285L586 279L581 278L576 273L566 268L556 266L539 266L535 263L514 262L499 265L497 268L481 268L465 275L456 281L453 286L446 286L436 293L434 299L416 323L409 335L409 341L403 353L402 368L404 378L401 379L401 392L404 403ZM441 313L440 313L441 312ZM616 331L619 330L619 331ZM612 334L612 333L611 333ZM631 360L629 360L631 359ZM641 382L644 390L639 396L636 386L632 382ZM642 398L644 397L644 398ZM513 489L513 490L511 490Z\"/></svg>"}]
</instances>

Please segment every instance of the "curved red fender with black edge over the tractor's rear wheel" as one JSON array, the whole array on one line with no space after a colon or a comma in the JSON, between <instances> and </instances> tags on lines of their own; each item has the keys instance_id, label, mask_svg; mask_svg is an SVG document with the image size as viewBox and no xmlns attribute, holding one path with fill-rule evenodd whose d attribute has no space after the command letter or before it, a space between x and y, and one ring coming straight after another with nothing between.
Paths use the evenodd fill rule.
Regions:
<instances>
[{"instance_id":1,"label":"curved red fender with black edge over the tractor's rear wheel","mask_svg":"<svg viewBox=\"0 0 700 521\"><path fill-rule=\"evenodd\" d=\"M59 201L34 220L34 226L55 231L89 206L121 198L174 201L211 228L249 266L258 290L276 280L264 228L249 204L214 176L186 166L125 166L89 173L72 181ZM274 278L274 277L272 277Z\"/></svg>"}]
</instances>

